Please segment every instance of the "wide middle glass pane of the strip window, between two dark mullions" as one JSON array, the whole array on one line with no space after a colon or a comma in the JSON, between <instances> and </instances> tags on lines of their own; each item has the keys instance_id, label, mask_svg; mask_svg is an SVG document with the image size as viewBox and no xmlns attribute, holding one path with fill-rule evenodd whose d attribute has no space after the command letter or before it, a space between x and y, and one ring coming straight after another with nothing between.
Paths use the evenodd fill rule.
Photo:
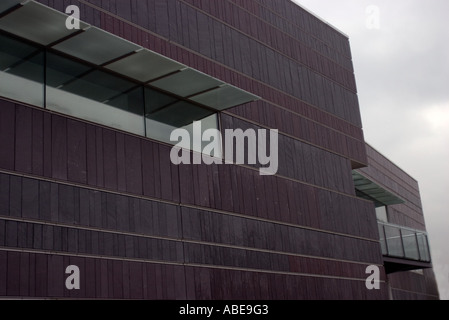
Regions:
<instances>
[{"instance_id":1,"label":"wide middle glass pane of the strip window, between two dark mullions","mask_svg":"<svg viewBox=\"0 0 449 320\"><path fill-rule=\"evenodd\" d=\"M54 53L47 54L47 108L145 135L143 88Z\"/></svg>"}]
</instances>

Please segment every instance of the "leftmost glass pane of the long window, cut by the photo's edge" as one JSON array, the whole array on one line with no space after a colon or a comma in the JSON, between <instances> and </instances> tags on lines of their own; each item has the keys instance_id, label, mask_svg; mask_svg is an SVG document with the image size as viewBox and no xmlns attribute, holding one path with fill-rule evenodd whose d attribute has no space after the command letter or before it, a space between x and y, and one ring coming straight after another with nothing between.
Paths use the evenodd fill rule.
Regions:
<instances>
[{"instance_id":1,"label":"leftmost glass pane of the long window, cut by the photo's edge","mask_svg":"<svg viewBox=\"0 0 449 320\"><path fill-rule=\"evenodd\" d=\"M0 95L44 106L44 52L0 34Z\"/></svg>"}]
</instances>

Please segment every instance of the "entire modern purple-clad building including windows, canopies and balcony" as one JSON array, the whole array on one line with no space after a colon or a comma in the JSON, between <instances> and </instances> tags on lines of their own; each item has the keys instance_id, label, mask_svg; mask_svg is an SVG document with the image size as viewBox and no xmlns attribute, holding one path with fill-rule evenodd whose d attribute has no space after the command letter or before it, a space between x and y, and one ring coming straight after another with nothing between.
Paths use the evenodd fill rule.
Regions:
<instances>
[{"instance_id":1,"label":"entire modern purple-clad building including windows, canopies and balcony","mask_svg":"<svg viewBox=\"0 0 449 320\"><path fill-rule=\"evenodd\" d=\"M438 299L417 182L300 6L6 0L0 39L0 298ZM173 164L194 121L278 130L277 173Z\"/></svg>"}]
</instances>

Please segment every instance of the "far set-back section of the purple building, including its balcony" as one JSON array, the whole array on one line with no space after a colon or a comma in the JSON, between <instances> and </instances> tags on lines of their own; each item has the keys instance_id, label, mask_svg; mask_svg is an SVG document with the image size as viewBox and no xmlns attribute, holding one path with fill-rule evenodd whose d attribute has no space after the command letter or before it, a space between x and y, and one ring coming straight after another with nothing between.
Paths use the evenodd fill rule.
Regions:
<instances>
[{"instance_id":1,"label":"far set-back section of the purple building, including its balcony","mask_svg":"<svg viewBox=\"0 0 449 320\"><path fill-rule=\"evenodd\" d=\"M368 166L353 171L356 194L376 207L389 297L438 299L415 179L367 145Z\"/></svg>"}]
</instances>

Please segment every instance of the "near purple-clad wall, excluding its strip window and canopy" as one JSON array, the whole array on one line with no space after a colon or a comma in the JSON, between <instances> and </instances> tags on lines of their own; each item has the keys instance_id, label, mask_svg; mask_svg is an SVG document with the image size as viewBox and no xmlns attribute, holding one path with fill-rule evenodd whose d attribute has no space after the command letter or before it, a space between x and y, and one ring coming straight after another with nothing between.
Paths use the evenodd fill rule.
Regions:
<instances>
[{"instance_id":1,"label":"near purple-clad wall, excluding its strip window and canopy","mask_svg":"<svg viewBox=\"0 0 449 320\"><path fill-rule=\"evenodd\" d=\"M388 298L373 205L351 180L367 158L346 36L290 1L70 4L259 95L222 128L279 129L280 169L174 166L165 144L1 99L0 296ZM65 289L72 264L81 290Z\"/></svg>"}]
</instances>

